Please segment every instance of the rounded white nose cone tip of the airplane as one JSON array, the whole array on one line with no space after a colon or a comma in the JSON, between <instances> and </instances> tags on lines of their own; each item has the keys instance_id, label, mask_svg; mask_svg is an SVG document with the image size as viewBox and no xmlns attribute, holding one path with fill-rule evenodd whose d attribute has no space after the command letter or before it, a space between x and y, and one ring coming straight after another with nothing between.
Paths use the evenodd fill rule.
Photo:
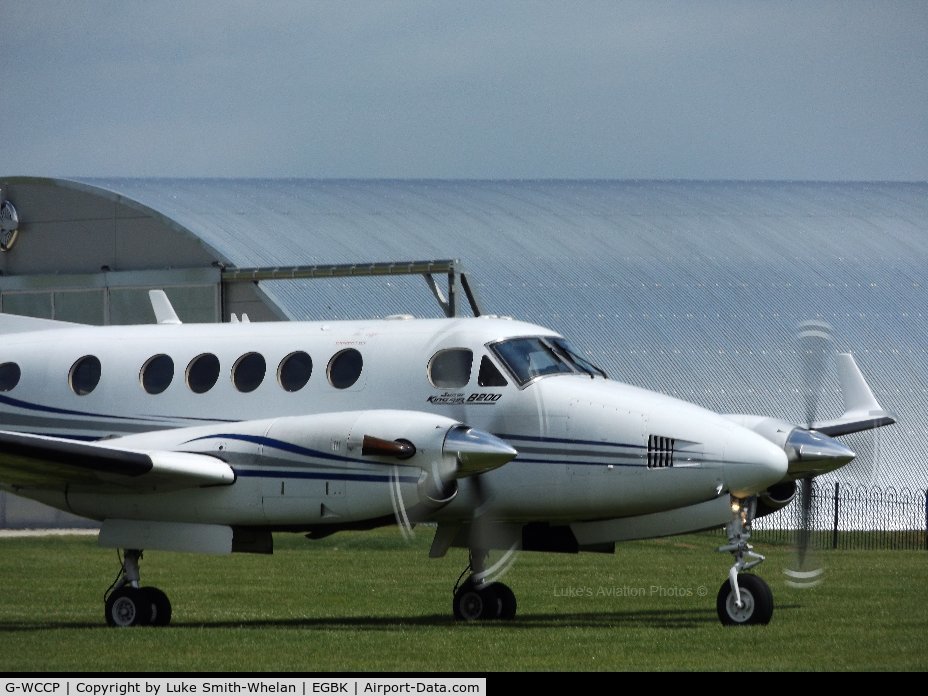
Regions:
<instances>
[{"instance_id":1,"label":"rounded white nose cone tip of the airplane","mask_svg":"<svg viewBox=\"0 0 928 696\"><path fill-rule=\"evenodd\" d=\"M739 428L725 443L725 483L732 495L746 498L786 477L786 452L765 437Z\"/></svg>"}]
</instances>

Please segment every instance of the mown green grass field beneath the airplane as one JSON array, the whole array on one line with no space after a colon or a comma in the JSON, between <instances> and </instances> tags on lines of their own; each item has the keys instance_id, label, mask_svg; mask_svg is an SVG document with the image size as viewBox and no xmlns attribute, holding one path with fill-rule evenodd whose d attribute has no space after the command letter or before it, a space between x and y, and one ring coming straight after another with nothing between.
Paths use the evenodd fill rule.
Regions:
<instances>
[{"instance_id":1,"label":"mown green grass field beneath the airplane","mask_svg":"<svg viewBox=\"0 0 928 696\"><path fill-rule=\"evenodd\" d=\"M770 625L723 627L715 596L730 556L718 535L619 545L615 556L523 553L505 581L516 620L461 624L456 550L427 557L395 530L273 556L150 551L146 585L171 597L167 628L108 628L115 551L95 537L0 540L2 672L496 672L547 670L925 670L928 553L819 552L826 579L798 590L786 546L760 546Z\"/></svg>"}]
</instances>

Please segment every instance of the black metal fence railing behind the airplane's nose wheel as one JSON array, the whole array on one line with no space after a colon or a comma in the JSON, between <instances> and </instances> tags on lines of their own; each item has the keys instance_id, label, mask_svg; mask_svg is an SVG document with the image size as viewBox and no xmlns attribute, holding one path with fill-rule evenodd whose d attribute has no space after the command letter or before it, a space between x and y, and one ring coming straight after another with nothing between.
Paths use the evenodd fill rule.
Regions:
<instances>
[{"instance_id":1,"label":"black metal fence railing behind the airplane's nose wheel","mask_svg":"<svg viewBox=\"0 0 928 696\"><path fill-rule=\"evenodd\" d=\"M782 510L754 521L754 540L793 543L802 487ZM928 550L928 490L812 482L809 544L821 549Z\"/></svg>"}]
</instances>

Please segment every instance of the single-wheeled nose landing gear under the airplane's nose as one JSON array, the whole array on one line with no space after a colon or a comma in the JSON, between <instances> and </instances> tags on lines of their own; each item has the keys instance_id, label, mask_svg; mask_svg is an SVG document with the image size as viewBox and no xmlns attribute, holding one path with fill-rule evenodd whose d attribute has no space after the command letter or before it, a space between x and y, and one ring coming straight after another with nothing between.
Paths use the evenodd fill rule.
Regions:
<instances>
[{"instance_id":1,"label":"single-wheeled nose landing gear under the airplane's nose","mask_svg":"<svg viewBox=\"0 0 928 696\"><path fill-rule=\"evenodd\" d=\"M731 510L731 521L726 527L728 543L720 546L719 551L729 551L735 562L728 571L728 580L719 588L715 608L726 626L767 624L773 616L770 586L758 576L742 572L764 561L748 543L757 512L757 498L732 497Z\"/></svg>"}]
</instances>

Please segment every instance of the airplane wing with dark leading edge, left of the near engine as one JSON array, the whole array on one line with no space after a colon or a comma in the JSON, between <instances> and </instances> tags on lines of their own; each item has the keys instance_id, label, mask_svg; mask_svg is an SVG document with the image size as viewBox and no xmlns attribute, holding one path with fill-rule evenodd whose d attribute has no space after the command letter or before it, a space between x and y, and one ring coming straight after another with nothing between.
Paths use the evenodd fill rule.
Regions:
<instances>
[{"instance_id":1,"label":"airplane wing with dark leading edge, left of the near engine","mask_svg":"<svg viewBox=\"0 0 928 696\"><path fill-rule=\"evenodd\" d=\"M232 468L206 454L120 449L0 431L0 485L14 492L74 485L101 493L150 492L234 482Z\"/></svg>"}]
</instances>

